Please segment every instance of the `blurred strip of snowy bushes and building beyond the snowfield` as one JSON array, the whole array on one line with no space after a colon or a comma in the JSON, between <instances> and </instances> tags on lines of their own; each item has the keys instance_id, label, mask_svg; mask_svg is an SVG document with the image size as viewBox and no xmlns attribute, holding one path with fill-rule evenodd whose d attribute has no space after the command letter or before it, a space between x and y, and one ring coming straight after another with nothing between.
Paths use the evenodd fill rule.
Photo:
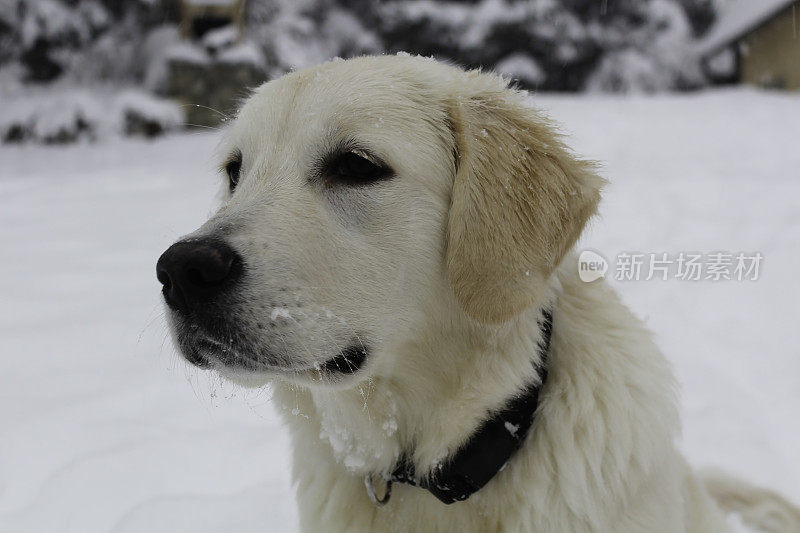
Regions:
<instances>
[{"instance_id":1,"label":"blurred strip of snowy bushes and building beyond the snowfield","mask_svg":"<svg viewBox=\"0 0 800 533\"><path fill-rule=\"evenodd\" d=\"M494 69L535 91L652 93L742 82L797 89L796 7L782 0L0 0L0 90L6 102L25 95L0 118L0 137L72 142L214 126L248 88L289 70L397 51ZM40 98L31 101L31 93Z\"/></svg>"}]
</instances>

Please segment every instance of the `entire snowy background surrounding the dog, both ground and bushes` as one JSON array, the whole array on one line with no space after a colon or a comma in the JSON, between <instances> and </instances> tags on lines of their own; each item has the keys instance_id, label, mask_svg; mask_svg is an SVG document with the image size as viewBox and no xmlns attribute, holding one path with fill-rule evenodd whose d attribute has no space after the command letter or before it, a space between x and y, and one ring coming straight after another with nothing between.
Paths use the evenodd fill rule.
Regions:
<instances>
[{"instance_id":1,"label":"entire snowy background surrounding the dog, both ground and bushes","mask_svg":"<svg viewBox=\"0 0 800 533\"><path fill-rule=\"evenodd\" d=\"M504 74L602 163L579 248L674 364L681 448L800 502L798 11L0 0L0 531L296 530L269 390L175 355L155 262L213 211L220 130L251 88L396 52ZM616 275L682 253L763 261L745 280Z\"/></svg>"}]
</instances>

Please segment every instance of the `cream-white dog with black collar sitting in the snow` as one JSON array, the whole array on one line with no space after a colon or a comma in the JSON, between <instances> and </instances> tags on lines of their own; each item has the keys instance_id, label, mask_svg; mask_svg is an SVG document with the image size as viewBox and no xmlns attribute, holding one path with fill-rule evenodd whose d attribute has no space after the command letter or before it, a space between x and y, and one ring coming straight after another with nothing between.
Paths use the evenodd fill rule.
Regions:
<instances>
[{"instance_id":1,"label":"cream-white dog with black collar sitting in the snow","mask_svg":"<svg viewBox=\"0 0 800 533\"><path fill-rule=\"evenodd\" d=\"M669 365L569 252L603 180L503 79L327 63L256 90L225 150L158 277L187 359L272 383L304 530L800 531L676 451Z\"/></svg>"}]
</instances>

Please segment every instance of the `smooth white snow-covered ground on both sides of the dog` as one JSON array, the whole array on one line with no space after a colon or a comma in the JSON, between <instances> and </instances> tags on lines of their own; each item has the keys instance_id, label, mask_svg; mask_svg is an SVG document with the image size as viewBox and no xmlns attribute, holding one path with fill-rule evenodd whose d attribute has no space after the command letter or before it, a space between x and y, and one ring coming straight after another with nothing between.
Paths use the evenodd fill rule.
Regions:
<instances>
[{"instance_id":1,"label":"smooth white snow-covered ground on both sides of the dog","mask_svg":"<svg viewBox=\"0 0 800 533\"><path fill-rule=\"evenodd\" d=\"M683 387L683 448L800 501L800 95L535 96L611 179L581 246L759 251L758 281L613 283ZM213 207L214 133L0 147L0 530L291 531L268 391L187 366L155 262Z\"/></svg>"}]
</instances>

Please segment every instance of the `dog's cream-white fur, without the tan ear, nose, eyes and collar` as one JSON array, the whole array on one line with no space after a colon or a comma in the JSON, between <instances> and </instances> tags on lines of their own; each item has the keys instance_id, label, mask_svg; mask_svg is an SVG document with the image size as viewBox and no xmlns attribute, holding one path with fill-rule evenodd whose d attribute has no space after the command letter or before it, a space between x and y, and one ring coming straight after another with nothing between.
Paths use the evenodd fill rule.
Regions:
<instances>
[{"instance_id":1,"label":"dog's cream-white fur, without the tan ear, nose, eyes and collar","mask_svg":"<svg viewBox=\"0 0 800 533\"><path fill-rule=\"evenodd\" d=\"M217 367L250 385L272 382L292 436L303 530L726 531L676 451L671 369L607 284L581 282L576 258L558 254L560 266L535 273L544 281L511 318L476 319L454 295L445 251L464 162L453 159L445 102L478 85L508 91L497 78L420 58L329 63L257 90L226 141L243 154L239 186L194 235L223 235L245 258L230 313L253 353L278 355L259 360L261 372ZM358 191L315 183L313 161L345 137L397 177ZM503 146L492 150L480 157L503 157ZM431 471L533 379L546 307L549 377L507 467L465 502L444 505L396 484L385 507L374 505L365 474L390 472L403 453ZM324 378L315 368L353 338L370 347L366 367Z\"/></svg>"}]
</instances>

